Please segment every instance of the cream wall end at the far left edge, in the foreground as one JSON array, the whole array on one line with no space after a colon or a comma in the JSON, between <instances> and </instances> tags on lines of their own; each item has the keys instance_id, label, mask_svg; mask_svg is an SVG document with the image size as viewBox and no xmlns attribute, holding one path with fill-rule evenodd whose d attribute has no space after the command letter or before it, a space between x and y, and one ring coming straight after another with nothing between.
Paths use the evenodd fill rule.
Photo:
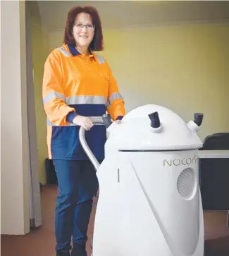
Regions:
<instances>
[{"instance_id":1,"label":"cream wall end at the far left edge, in the foreground","mask_svg":"<svg viewBox=\"0 0 229 256\"><path fill-rule=\"evenodd\" d=\"M1 23L1 234L22 235L30 231L25 1L1 1Z\"/></svg>"}]
</instances>

